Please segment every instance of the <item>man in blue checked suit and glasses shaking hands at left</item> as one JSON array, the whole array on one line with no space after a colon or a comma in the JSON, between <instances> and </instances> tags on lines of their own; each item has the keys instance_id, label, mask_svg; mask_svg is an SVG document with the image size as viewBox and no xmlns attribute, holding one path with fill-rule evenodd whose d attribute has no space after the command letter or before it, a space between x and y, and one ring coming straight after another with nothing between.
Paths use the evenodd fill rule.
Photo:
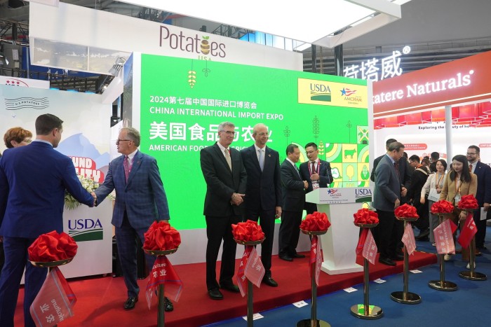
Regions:
<instances>
[{"instance_id":1,"label":"man in blue checked suit and glasses shaking hands at left","mask_svg":"<svg viewBox=\"0 0 491 327\"><path fill-rule=\"evenodd\" d=\"M169 208L166 191L155 158L141 153L140 132L133 127L123 127L116 141L118 158L109 164L104 183L95 190L97 203L116 190L116 202L111 223L116 228L116 244L128 298L124 309L130 310L138 302L140 288L137 284L137 237L144 243L144 233L154 221L168 220ZM152 270L155 257L145 253L147 267ZM173 304L166 298L166 311Z\"/></svg>"}]
</instances>

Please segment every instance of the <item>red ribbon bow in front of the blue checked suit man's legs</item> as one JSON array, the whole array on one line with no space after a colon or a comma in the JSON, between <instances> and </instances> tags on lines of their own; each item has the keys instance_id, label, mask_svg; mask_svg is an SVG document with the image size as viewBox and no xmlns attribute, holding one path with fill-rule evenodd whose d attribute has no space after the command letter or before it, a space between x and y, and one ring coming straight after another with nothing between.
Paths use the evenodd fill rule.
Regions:
<instances>
[{"instance_id":1,"label":"red ribbon bow in front of the blue checked suit man's legs","mask_svg":"<svg viewBox=\"0 0 491 327\"><path fill-rule=\"evenodd\" d=\"M167 221L154 221L144 234L143 248L147 250L166 251L177 249L181 244L181 235Z\"/></svg>"}]
</instances>

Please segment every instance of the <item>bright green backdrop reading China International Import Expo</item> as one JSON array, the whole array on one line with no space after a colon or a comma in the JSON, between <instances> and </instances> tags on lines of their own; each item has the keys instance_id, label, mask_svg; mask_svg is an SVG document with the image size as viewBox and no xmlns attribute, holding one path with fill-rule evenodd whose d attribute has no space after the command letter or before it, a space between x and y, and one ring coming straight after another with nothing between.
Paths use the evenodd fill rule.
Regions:
<instances>
[{"instance_id":1,"label":"bright green backdrop reading China International Import Expo","mask_svg":"<svg viewBox=\"0 0 491 327\"><path fill-rule=\"evenodd\" d=\"M316 142L331 163L332 187L368 186L364 80L142 55L140 96L140 148L159 162L177 229L206 227L199 151L217 141L223 121L236 125L238 150L253 145L253 127L264 123L281 162L288 144L300 146L300 164L305 144Z\"/></svg>"}]
</instances>

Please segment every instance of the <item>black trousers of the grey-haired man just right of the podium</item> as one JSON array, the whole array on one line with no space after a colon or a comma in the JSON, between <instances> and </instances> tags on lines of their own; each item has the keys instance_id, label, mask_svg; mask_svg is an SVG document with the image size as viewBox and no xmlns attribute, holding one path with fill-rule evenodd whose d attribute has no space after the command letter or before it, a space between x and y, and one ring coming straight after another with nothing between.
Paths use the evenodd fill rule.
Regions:
<instances>
[{"instance_id":1,"label":"black trousers of the grey-haired man just right of the podium","mask_svg":"<svg viewBox=\"0 0 491 327\"><path fill-rule=\"evenodd\" d=\"M396 219L394 211L377 210L377 214L379 224L374 230L377 235L375 239L378 242L380 258L394 258L397 244L402 238L403 222Z\"/></svg>"}]
</instances>

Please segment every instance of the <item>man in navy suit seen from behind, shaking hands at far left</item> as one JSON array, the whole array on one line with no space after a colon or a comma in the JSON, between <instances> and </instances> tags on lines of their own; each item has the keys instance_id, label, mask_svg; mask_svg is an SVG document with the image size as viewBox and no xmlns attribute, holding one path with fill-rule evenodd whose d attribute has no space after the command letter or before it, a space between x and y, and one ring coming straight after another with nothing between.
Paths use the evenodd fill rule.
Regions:
<instances>
[{"instance_id":1,"label":"man in navy suit seen from behind, shaking hands at far left","mask_svg":"<svg viewBox=\"0 0 491 327\"><path fill-rule=\"evenodd\" d=\"M13 326L19 284L25 268L24 321L36 326L29 307L43 285L47 269L27 263L27 248L41 234L63 231L65 188L93 207L94 198L76 176L72 159L54 148L62 136L60 118L49 113L36 119L36 139L11 148L0 159L0 235L5 265L0 277L0 326Z\"/></svg>"}]
</instances>

